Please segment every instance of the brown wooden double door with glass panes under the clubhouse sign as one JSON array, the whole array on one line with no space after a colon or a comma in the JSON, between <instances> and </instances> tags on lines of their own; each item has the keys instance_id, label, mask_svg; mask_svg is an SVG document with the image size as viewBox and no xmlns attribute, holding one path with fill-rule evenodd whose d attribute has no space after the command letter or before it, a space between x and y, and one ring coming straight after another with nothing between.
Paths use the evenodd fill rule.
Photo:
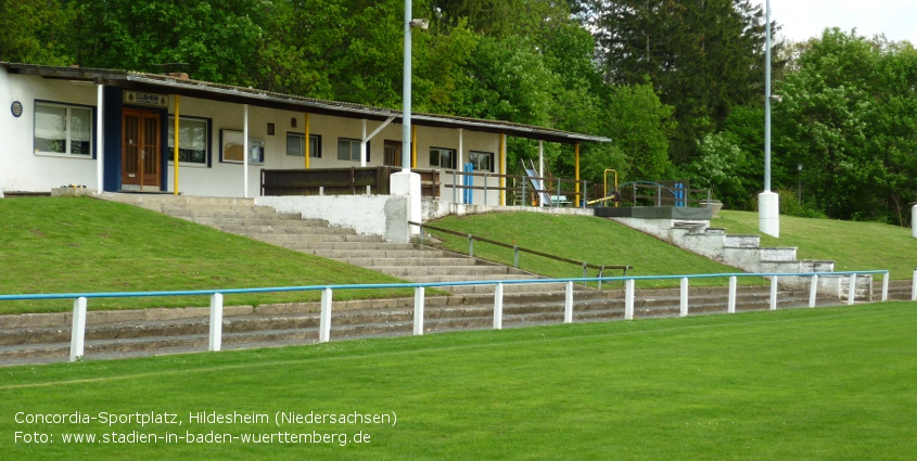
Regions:
<instances>
[{"instance_id":1,"label":"brown wooden double door with glass panes under the clubhouse sign","mask_svg":"<svg viewBox=\"0 0 917 461\"><path fill-rule=\"evenodd\" d=\"M158 189L163 162L160 115L125 108L122 126L122 184Z\"/></svg>"}]
</instances>

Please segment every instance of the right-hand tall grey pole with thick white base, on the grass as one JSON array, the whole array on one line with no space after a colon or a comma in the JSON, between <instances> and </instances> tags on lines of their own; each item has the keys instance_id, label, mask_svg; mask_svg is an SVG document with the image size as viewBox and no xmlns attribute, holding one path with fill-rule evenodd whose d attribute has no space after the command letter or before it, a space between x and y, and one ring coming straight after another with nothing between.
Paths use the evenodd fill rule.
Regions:
<instances>
[{"instance_id":1,"label":"right-hand tall grey pole with thick white base, on the grass","mask_svg":"<svg viewBox=\"0 0 917 461\"><path fill-rule=\"evenodd\" d=\"M780 197L770 192L770 0L765 2L764 48L764 192L757 195L757 229L780 236Z\"/></svg>"}]
</instances>

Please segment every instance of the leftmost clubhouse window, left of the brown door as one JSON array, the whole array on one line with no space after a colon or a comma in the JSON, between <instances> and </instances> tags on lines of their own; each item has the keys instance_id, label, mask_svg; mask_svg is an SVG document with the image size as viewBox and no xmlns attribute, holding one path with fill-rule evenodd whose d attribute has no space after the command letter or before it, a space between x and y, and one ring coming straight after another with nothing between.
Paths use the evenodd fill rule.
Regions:
<instances>
[{"instance_id":1,"label":"leftmost clubhouse window, left of the brown door","mask_svg":"<svg viewBox=\"0 0 917 461\"><path fill-rule=\"evenodd\" d=\"M92 155L92 108L36 102L35 152Z\"/></svg>"}]
</instances>

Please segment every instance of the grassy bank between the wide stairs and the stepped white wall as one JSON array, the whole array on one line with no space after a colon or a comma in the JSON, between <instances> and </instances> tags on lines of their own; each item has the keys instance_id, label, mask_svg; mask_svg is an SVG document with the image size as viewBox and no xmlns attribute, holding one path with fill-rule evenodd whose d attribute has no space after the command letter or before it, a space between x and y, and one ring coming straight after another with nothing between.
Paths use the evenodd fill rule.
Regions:
<instances>
[{"instance_id":1,"label":"grassy bank between the wide stairs and the stepped white wall","mask_svg":"<svg viewBox=\"0 0 917 461\"><path fill-rule=\"evenodd\" d=\"M590 216L555 216L539 213L492 213L463 217L448 216L433 226L471 233L486 239L586 261L594 265L629 265L634 276L740 272L703 256L665 244L655 238L617 222ZM448 248L468 253L468 239L431 231ZM512 249L475 243L474 256L512 265ZM583 268L566 262L520 255L520 267L557 278L583 277ZM596 270L589 276L595 277ZM612 276L621 276L614 271ZM677 286L677 279L640 281L640 287ZM759 283L743 278L742 283ZM723 285L725 279L696 279L695 285Z\"/></svg>"}]
</instances>

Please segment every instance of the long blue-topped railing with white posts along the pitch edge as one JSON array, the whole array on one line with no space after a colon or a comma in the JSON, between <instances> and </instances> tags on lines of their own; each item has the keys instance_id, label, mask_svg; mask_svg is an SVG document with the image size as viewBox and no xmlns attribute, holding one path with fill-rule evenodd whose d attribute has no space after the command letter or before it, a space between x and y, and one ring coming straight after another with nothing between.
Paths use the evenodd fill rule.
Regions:
<instances>
[{"instance_id":1,"label":"long blue-topped railing with white posts along the pitch edge","mask_svg":"<svg viewBox=\"0 0 917 461\"><path fill-rule=\"evenodd\" d=\"M740 277L755 277L770 279L770 310L777 309L777 280L781 277L810 278L808 307L815 307L815 299L818 291L819 278L850 278L850 291L848 304L852 305L855 298L856 277L866 274L882 274L882 297L888 300L889 271L888 270L861 270L840 272L805 272L805 273L701 273L686 276L624 276L624 277L594 277L594 278L568 278L568 279L525 279L525 280L473 280L457 282L425 282L425 283L373 283L373 284L349 284L349 285L308 285L308 286L271 286L258 289L225 289L225 290L187 290L187 291L161 291L161 292L111 292L111 293L46 293L46 294L14 294L0 295L3 300L29 300L29 299L74 299L73 329L71 333L71 361L78 360L84 356L86 336L86 309L89 299L93 298L130 298L150 296L211 296L209 316L209 344L208 350L220 350L222 341L222 298L225 295L251 294L251 293L278 293L278 292L321 292L321 313L319 318L319 342L330 341L331 333L331 300L335 290L379 290L379 289L413 289L415 290L415 315L413 334L423 334L423 310L424 290L428 287L469 286L469 285L494 285L494 329L502 328L502 302L505 285L522 284L546 284L564 283L564 323L573 322L573 284L580 282L624 282L624 319L634 318L634 292L637 281L646 280L672 280L680 279L680 310L679 315L688 315L688 284L690 279L729 279L729 298L727 311L736 311L737 279ZM915 295L917 295L917 270L915 270Z\"/></svg>"}]
</instances>

